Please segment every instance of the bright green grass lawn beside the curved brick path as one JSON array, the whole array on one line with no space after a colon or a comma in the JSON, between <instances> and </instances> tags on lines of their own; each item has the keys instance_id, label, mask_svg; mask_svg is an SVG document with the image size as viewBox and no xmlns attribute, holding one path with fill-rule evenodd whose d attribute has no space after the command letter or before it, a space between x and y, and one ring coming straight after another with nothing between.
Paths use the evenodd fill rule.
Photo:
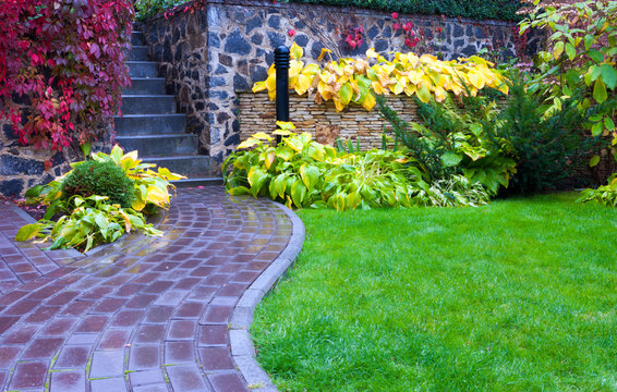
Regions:
<instances>
[{"instance_id":1,"label":"bright green grass lawn beside the curved brick path","mask_svg":"<svg viewBox=\"0 0 617 392\"><path fill-rule=\"evenodd\" d=\"M617 391L617 210L574 198L299 211L259 363L283 391Z\"/></svg>"}]
</instances>

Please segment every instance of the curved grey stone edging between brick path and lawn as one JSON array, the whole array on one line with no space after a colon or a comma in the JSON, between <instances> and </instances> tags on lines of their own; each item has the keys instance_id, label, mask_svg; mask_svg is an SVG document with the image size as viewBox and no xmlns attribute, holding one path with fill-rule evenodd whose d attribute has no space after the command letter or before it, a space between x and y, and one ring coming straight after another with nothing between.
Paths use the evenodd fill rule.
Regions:
<instances>
[{"instance_id":1,"label":"curved grey stone edging between brick path and lawn","mask_svg":"<svg viewBox=\"0 0 617 392\"><path fill-rule=\"evenodd\" d=\"M229 341L231 355L238 370L244 377L249 388L254 392L278 391L268 373L257 363L255 346L250 328L253 324L255 308L264 296L273 290L275 284L285 275L293 265L304 244L304 223L291 209L281 204L271 201L280 208L292 224L291 237L287 247L270 266L246 289L233 308L229 326Z\"/></svg>"}]
</instances>

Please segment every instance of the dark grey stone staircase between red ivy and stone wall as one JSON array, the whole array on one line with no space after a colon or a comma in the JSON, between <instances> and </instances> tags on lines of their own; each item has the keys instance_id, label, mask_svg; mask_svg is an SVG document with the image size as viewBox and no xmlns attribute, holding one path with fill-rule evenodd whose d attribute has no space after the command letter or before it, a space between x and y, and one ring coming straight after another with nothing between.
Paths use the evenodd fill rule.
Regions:
<instances>
[{"instance_id":1,"label":"dark grey stone staircase between red ivy and stone wall","mask_svg":"<svg viewBox=\"0 0 617 392\"><path fill-rule=\"evenodd\" d=\"M116 140L125 150L138 150L144 162L156 163L187 176L177 186L222 184L211 173L211 159L198 155L199 140L185 133L185 114L176 112L176 97L166 95L165 78L157 77L157 63L148 61L141 32L133 32L129 53L132 86L122 94L122 117L116 117Z\"/></svg>"}]
</instances>

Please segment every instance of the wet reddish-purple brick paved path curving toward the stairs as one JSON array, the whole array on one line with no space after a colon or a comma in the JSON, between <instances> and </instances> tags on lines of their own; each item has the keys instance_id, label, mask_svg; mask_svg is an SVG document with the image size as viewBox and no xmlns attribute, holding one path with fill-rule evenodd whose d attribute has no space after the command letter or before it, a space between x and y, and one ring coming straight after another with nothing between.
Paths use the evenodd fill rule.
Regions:
<instances>
[{"instance_id":1,"label":"wet reddish-purple brick paved path curving toward the stairs","mask_svg":"<svg viewBox=\"0 0 617 392\"><path fill-rule=\"evenodd\" d=\"M162 238L132 234L86 256L15 245L23 223L0 207L2 391L267 387L247 385L238 366L251 364L235 363L229 328L241 296L288 247L295 223L283 208L221 187L179 189L158 222Z\"/></svg>"}]
</instances>

